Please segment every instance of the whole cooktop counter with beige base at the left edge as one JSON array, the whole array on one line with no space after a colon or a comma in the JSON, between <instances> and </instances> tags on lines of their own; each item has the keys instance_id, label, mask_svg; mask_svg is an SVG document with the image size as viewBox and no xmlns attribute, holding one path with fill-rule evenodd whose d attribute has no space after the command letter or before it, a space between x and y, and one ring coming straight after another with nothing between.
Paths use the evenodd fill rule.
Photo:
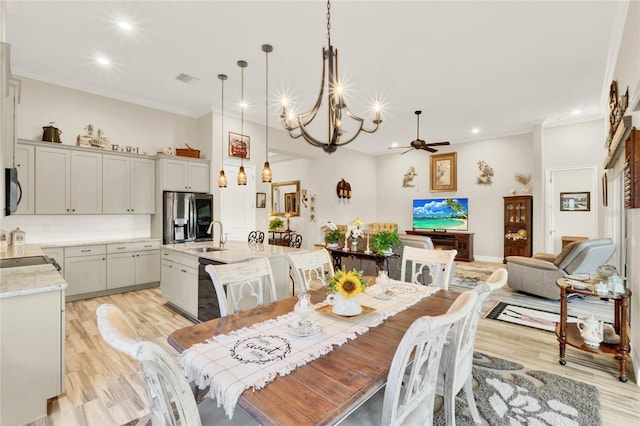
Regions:
<instances>
[{"instance_id":1,"label":"whole cooktop counter with beige base at the left edge","mask_svg":"<svg viewBox=\"0 0 640 426\"><path fill-rule=\"evenodd\" d=\"M64 392L67 283L35 245L0 261L0 424L24 424Z\"/></svg>"}]
</instances>

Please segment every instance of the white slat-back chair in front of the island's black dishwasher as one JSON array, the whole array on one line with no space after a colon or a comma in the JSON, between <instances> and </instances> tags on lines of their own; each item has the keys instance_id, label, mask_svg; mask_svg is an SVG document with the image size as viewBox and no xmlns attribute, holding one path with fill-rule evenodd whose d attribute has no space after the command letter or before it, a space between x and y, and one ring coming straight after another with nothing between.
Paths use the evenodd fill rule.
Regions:
<instances>
[{"instance_id":1,"label":"white slat-back chair in front of the island's black dishwasher","mask_svg":"<svg viewBox=\"0 0 640 426\"><path fill-rule=\"evenodd\" d=\"M263 305L276 300L271 263L266 257L224 265L207 265L218 297L220 316ZM268 293L268 294L267 294Z\"/></svg>"}]
</instances>

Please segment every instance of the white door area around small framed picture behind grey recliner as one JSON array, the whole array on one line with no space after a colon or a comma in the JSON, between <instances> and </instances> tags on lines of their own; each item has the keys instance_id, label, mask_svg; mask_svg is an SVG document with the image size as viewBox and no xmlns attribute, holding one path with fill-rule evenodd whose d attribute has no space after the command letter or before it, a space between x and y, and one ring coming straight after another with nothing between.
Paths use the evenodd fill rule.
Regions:
<instances>
[{"instance_id":1,"label":"white door area around small framed picture behind grey recliner","mask_svg":"<svg viewBox=\"0 0 640 426\"><path fill-rule=\"evenodd\" d=\"M588 210L562 210L561 193L588 193ZM545 251L559 253L562 237L598 236L598 190L597 168L574 167L547 170L547 241Z\"/></svg>"}]
</instances>

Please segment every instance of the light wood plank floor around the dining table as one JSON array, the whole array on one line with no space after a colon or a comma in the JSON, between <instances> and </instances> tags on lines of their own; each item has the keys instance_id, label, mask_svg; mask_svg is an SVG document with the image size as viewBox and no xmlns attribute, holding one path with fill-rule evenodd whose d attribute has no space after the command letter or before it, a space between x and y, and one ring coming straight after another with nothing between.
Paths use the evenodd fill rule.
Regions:
<instances>
[{"instance_id":1,"label":"light wood plank floor around the dining table","mask_svg":"<svg viewBox=\"0 0 640 426\"><path fill-rule=\"evenodd\" d=\"M122 425L148 413L147 397L137 363L106 345L96 325L96 308L112 303L122 309L140 334L176 351L167 343L174 330L190 325L168 308L158 288L99 297L66 304L66 393L54 399L46 419L33 425ZM487 309L492 306L487 301ZM617 379L618 364L567 348L567 365L558 364L554 333L481 319L476 350L590 383L600 390L603 425L640 425L640 387Z\"/></svg>"}]
</instances>

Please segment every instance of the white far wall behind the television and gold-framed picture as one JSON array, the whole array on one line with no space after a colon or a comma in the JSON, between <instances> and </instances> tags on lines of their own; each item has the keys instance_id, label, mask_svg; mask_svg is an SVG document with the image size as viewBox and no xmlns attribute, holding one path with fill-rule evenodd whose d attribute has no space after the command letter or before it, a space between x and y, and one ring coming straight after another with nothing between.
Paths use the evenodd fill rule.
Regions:
<instances>
[{"instance_id":1,"label":"white far wall behind the television and gold-framed picture","mask_svg":"<svg viewBox=\"0 0 640 426\"><path fill-rule=\"evenodd\" d=\"M469 232L474 233L474 256L477 260L502 261L503 198L512 189L521 193L516 173L532 173L531 134L495 138L480 142L456 144L440 149L438 154L457 153L458 179L456 192L429 191L429 153L410 151L404 155L377 157L377 220L396 222L400 232L412 227L412 201L416 198L469 198ZM477 162L493 167L493 184L476 183ZM415 187L402 187L402 177L409 166L418 176ZM534 203L537 200L534 198ZM534 229L534 240L537 238Z\"/></svg>"}]
</instances>

